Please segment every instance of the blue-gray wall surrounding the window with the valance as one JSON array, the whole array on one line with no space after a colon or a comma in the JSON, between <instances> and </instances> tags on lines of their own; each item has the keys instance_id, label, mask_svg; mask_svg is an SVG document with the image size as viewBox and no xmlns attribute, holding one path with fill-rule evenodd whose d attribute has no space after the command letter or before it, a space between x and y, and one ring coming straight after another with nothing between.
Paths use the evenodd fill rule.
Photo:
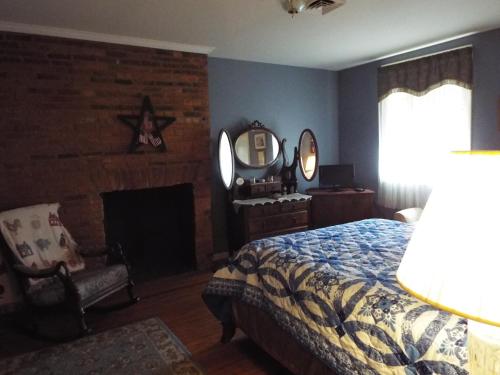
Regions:
<instances>
[{"instance_id":1,"label":"blue-gray wall surrounding the window with the valance","mask_svg":"<svg viewBox=\"0 0 500 375\"><path fill-rule=\"evenodd\" d=\"M357 181L378 185L377 68L380 65L472 44L474 88L472 97L473 149L500 148L497 102L500 98L500 29L443 43L339 72L340 162L356 165Z\"/></svg>"}]
</instances>

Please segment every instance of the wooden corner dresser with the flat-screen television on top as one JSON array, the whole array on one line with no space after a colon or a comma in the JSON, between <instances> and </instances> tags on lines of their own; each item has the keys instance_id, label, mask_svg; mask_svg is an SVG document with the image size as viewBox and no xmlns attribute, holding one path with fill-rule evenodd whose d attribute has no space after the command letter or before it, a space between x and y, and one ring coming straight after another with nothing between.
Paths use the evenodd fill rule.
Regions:
<instances>
[{"instance_id":1,"label":"wooden corner dresser with the flat-screen television on top","mask_svg":"<svg viewBox=\"0 0 500 375\"><path fill-rule=\"evenodd\" d=\"M323 228L351 221L373 217L372 190L357 192L353 189L333 191L328 189L308 189L312 196L311 226Z\"/></svg>"}]
</instances>

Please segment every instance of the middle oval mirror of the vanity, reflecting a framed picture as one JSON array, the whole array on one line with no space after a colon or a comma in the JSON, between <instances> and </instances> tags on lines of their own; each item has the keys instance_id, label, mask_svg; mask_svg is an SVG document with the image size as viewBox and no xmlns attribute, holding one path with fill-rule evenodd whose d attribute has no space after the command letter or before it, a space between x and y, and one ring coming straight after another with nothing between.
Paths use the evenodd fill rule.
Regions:
<instances>
[{"instance_id":1,"label":"middle oval mirror of the vanity, reflecting a framed picture","mask_svg":"<svg viewBox=\"0 0 500 375\"><path fill-rule=\"evenodd\" d=\"M273 164L280 152L276 135L265 128L246 130L234 144L236 158L244 166L265 168Z\"/></svg>"}]
</instances>

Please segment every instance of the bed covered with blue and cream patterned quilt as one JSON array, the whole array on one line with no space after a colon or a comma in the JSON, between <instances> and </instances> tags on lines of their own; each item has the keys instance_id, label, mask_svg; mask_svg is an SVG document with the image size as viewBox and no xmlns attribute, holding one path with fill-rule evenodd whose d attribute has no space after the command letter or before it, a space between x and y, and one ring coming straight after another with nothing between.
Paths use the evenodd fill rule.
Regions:
<instances>
[{"instance_id":1,"label":"bed covered with blue and cream patterned quilt","mask_svg":"<svg viewBox=\"0 0 500 375\"><path fill-rule=\"evenodd\" d=\"M239 327L296 374L466 375L466 321L395 279L413 228L369 219L253 241L203 298L224 340Z\"/></svg>"}]
</instances>

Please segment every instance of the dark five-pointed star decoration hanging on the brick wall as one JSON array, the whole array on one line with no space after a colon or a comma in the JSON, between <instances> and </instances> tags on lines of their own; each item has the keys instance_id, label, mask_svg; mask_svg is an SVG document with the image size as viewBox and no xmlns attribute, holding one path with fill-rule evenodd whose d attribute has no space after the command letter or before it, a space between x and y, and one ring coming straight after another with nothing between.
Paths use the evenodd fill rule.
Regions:
<instances>
[{"instance_id":1,"label":"dark five-pointed star decoration hanging on the brick wall","mask_svg":"<svg viewBox=\"0 0 500 375\"><path fill-rule=\"evenodd\" d=\"M128 152L137 152L141 145L151 145L158 151L166 151L167 147L161 132L175 121L175 117L155 116L149 96L142 99L139 116L118 115L118 119L134 131Z\"/></svg>"}]
</instances>

